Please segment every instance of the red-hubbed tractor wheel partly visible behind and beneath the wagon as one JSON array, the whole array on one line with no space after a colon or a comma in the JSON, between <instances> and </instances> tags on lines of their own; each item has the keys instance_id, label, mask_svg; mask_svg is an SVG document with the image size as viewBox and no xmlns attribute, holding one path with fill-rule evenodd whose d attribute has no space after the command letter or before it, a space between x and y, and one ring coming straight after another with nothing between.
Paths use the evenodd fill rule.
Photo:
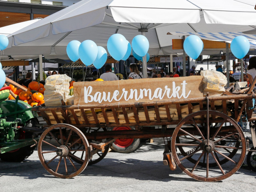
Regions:
<instances>
[{"instance_id":1,"label":"red-hubbed tractor wheel partly visible behind and beneath the wagon","mask_svg":"<svg viewBox=\"0 0 256 192\"><path fill-rule=\"evenodd\" d=\"M108 130L132 130L134 127L115 127L108 128ZM130 153L135 151L140 144L140 139L117 139L112 146L110 147L112 150L118 153Z\"/></svg>"}]
</instances>

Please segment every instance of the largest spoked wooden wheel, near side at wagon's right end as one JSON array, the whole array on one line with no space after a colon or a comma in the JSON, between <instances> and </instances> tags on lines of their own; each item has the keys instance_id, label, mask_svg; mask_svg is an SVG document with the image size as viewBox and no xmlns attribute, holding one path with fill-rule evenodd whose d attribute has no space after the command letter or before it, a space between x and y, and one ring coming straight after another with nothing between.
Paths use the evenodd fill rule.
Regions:
<instances>
[{"instance_id":1,"label":"largest spoked wooden wheel, near side at wagon's right end","mask_svg":"<svg viewBox=\"0 0 256 192\"><path fill-rule=\"evenodd\" d=\"M190 151L186 156L178 156L178 154L173 153L176 164L188 176L200 181L216 182L228 178L240 168L246 155L246 141L240 126L232 118L212 110L209 110L209 115L221 116L223 118L223 122L219 127L216 127L214 130L212 130L212 128L210 129L209 126L206 126L206 130L204 131L205 134L203 134L204 132L202 132L202 130L199 128L196 128L196 134L194 134L195 131L190 134L182 128L185 122L193 121L194 117L204 114L207 114L207 110L194 112L186 116L186 118L184 118L177 125L172 135L171 148L172 151L176 151L179 149L178 146L183 146L183 149L185 149L185 147L187 148L187 152ZM222 131L222 125L224 122L228 122L232 125L231 131ZM180 140L180 142L177 142L177 137L181 135L184 135L186 140L184 139ZM196 140L196 143L189 143L187 138ZM242 146L231 147L218 144L220 141L226 138L238 138ZM235 149L238 151L238 153L233 158L229 158L228 155L225 154L225 149ZM197 159L195 163L186 161L186 159L190 156L193 156L194 159ZM226 158L228 160L228 165L224 169L219 163L220 158ZM200 170L196 168L199 162L203 164L206 163L206 168L201 168ZM216 163L218 168L212 168L209 166L209 164L213 163Z\"/></svg>"}]
</instances>

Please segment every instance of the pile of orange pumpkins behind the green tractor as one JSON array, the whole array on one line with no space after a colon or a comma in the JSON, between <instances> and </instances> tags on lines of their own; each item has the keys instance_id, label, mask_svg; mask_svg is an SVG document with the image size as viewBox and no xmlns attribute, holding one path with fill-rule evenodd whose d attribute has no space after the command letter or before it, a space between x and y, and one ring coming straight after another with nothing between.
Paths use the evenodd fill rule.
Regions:
<instances>
[{"instance_id":1,"label":"pile of orange pumpkins behind the green tractor","mask_svg":"<svg viewBox=\"0 0 256 192\"><path fill-rule=\"evenodd\" d=\"M28 88L24 85L23 87L27 88L27 91L22 91L22 89L17 88L13 86L12 84L9 85L12 92L19 96L19 100L22 100L26 103L28 103L30 106L39 106L44 103L44 85L41 83L38 83L36 81L30 82L28 84ZM15 99L11 94L9 95L9 100Z\"/></svg>"}]
</instances>

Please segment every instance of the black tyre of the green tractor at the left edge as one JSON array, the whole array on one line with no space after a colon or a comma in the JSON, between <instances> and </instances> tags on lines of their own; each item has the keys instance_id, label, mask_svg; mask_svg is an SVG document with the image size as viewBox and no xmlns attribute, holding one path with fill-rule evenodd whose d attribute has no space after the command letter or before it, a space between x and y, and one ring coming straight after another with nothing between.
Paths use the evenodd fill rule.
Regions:
<instances>
[{"instance_id":1,"label":"black tyre of the green tractor at the left edge","mask_svg":"<svg viewBox=\"0 0 256 192\"><path fill-rule=\"evenodd\" d=\"M36 118L33 118L28 120L28 122L26 123L26 127L35 127L36 124L38 124L38 120ZM32 138L32 134L20 131L19 139L27 138ZM18 148L16 150L12 150L10 152L6 152L4 154L0 154L0 159L6 162L21 162L33 154L36 146L31 146L32 145L28 145L22 148Z\"/></svg>"}]
</instances>

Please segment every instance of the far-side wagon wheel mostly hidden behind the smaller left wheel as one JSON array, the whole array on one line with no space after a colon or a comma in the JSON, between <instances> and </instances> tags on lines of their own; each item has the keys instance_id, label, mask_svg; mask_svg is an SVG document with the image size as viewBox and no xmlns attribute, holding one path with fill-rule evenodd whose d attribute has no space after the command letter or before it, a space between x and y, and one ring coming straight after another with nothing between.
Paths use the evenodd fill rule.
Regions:
<instances>
[{"instance_id":1,"label":"far-side wagon wheel mostly hidden behind the smaller left wheel","mask_svg":"<svg viewBox=\"0 0 256 192\"><path fill-rule=\"evenodd\" d=\"M106 128L86 128L83 132L86 133L92 133L95 131L107 131ZM92 140L89 140L90 142L92 142ZM95 142L95 141L93 141ZM80 145L78 146L79 149L84 149L84 146ZM93 148L94 150L96 150L96 154L94 156L92 156L92 159L89 160L88 165L93 165L96 164L98 162L100 162L102 159L104 159L104 157L108 154L108 150L110 148L110 145L105 146L104 150L98 150L96 148ZM84 153L82 152L81 154L81 158L83 158ZM83 164L83 162L81 160L78 160L76 158L71 157L72 160L74 160L75 162L79 163L79 164Z\"/></svg>"}]
</instances>

